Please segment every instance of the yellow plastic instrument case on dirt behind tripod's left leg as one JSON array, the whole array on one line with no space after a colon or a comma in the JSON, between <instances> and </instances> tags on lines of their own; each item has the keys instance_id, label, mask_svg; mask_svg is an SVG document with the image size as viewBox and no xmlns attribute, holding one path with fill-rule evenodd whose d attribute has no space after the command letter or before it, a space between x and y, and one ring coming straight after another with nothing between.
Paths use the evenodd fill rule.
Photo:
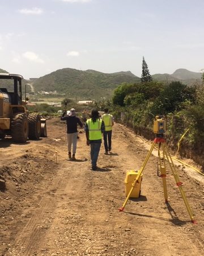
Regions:
<instances>
[{"instance_id":1,"label":"yellow plastic instrument case on dirt behind tripod's left leg","mask_svg":"<svg viewBox=\"0 0 204 256\"><path fill-rule=\"evenodd\" d=\"M137 177L138 171L130 170L127 171L126 177L125 177L125 194L128 196L128 193L130 192L130 189L132 187L132 183L134 179ZM141 194L141 183L142 183L142 174L139 177L138 182L135 184L135 187L133 188L133 191L131 192L130 197L131 198L138 198Z\"/></svg>"}]
</instances>

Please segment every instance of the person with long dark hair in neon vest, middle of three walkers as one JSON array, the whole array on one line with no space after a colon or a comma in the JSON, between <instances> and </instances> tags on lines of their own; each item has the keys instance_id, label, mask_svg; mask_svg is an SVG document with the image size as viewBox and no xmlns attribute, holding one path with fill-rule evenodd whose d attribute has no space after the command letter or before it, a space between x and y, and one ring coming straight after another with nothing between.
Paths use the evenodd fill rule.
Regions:
<instances>
[{"instance_id":1,"label":"person with long dark hair in neon vest, middle of three walkers","mask_svg":"<svg viewBox=\"0 0 204 256\"><path fill-rule=\"evenodd\" d=\"M99 118L99 112L93 109L91 118L86 121L85 131L87 138L87 146L91 146L91 170L97 169L97 158L99 156L100 146L102 142L102 133L105 130L103 120Z\"/></svg>"}]
</instances>

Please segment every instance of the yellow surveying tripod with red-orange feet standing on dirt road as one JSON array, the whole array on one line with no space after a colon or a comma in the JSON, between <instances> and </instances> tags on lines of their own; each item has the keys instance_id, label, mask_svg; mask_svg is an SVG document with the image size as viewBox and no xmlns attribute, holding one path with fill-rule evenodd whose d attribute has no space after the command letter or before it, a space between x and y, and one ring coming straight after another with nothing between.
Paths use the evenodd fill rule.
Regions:
<instances>
[{"instance_id":1,"label":"yellow surveying tripod with red-orange feet standing on dirt road","mask_svg":"<svg viewBox=\"0 0 204 256\"><path fill-rule=\"evenodd\" d=\"M125 202L124 204L122 205L121 208L119 208L120 212L122 212L125 208L125 205L128 203L128 200L130 198L130 195L131 195L131 192L133 191L134 187L135 187L135 184L138 182L139 180L139 177L141 176L143 170L145 169L145 166L148 162L148 159L150 158L151 156L151 153L155 147L155 144L159 144L159 148L158 148L158 166L160 168L160 173L161 173L161 177L162 177L162 181L163 181L163 190L164 190L164 199L165 199L165 203L168 203L168 195L167 195L167 181L166 181L166 176L167 176L167 172L166 172L166 167L165 167L165 159L167 159L167 162L169 164L169 167L171 168L171 171L172 171L172 174L175 178L175 181L176 181L176 185L177 187L179 187L179 190L180 190L180 193L181 193L181 196L182 196L182 199L184 200L184 203L185 203L185 206L188 210L188 213L190 215L190 219L191 221L196 224L196 220L194 220L194 216L193 216L193 213L192 213L192 210L190 209L190 205L186 199L186 196L185 196L185 192L184 190L182 189L182 182L179 180L179 175L176 171L176 168L175 168L175 165L173 164L173 160L171 158L171 155L169 154L168 152L168 149L167 149L167 145L165 143L165 139L162 135L162 137L156 137L154 139L154 142L152 143L152 146L150 148L150 151L148 151L148 154L145 158L145 161L144 163L142 164L142 167L139 169L138 171L138 175L137 177L134 179L133 183L132 183L132 187L128 193L128 196L126 197L125 199ZM163 157L161 157L161 152L160 152L160 148L162 147L162 151L163 151Z\"/></svg>"}]
</instances>

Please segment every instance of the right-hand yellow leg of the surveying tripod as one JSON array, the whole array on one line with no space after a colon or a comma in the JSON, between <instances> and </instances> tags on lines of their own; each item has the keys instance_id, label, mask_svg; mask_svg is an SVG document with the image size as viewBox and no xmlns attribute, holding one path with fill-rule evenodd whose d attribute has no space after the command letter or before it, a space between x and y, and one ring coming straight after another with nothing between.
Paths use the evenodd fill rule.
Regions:
<instances>
[{"instance_id":1,"label":"right-hand yellow leg of the surveying tripod","mask_svg":"<svg viewBox=\"0 0 204 256\"><path fill-rule=\"evenodd\" d=\"M186 199L186 196L185 196L185 192L184 190L182 189L182 182L179 180L179 175L177 174L177 171L176 171L176 168L175 168L175 165L173 164L173 160L171 158L171 155L169 154L168 152L168 149L167 149L167 146L166 144L164 143L164 154L165 156L167 157L167 161L169 163L169 167L171 168L171 171L172 171L172 174L175 178L175 181L176 181L176 185L179 187L179 190L180 190L180 193L181 193L181 196L182 196L182 199L184 200L184 203L185 203L185 206L186 206L186 209L188 210L188 213L189 213L189 216L190 216L190 219L191 221L196 224L196 220L194 220L194 216L193 216L193 212L192 212L192 209L190 208L190 205ZM170 159L170 161L169 161Z\"/></svg>"}]
</instances>

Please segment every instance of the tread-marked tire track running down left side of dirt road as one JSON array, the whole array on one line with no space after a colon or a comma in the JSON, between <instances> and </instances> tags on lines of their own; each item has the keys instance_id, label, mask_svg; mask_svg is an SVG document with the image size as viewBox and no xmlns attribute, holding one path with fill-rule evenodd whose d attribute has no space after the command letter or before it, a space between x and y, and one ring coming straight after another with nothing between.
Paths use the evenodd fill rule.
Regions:
<instances>
[{"instance_id":1,"label":"tread-marked tire track running down left side of dirt road","mask_svg":"<svg viewBox=\"0 0 204 256\"><path fill-rule=\"evenodd\" d=\"M18 246L12 249L12 255L22 256L33 255L36 253L42 237L45 235L46 230L49 229L49 220L52 220L51 215L56 210L59 201L56 197L61 193L60 191L64 191L67 185L65 179L65 176L67 175L66 170L66 164L63 164L59 169L59 176L54 178L49 191L46 192L45 195L42 195L42 199L37 205L38 208L32 210L32 217L29 218L27 224L24 226L21 234L17 238L15 244ZM49 195L50 193L54 195L54 200L52 200L52 195Z\"/></svg>"}]
</instances>

